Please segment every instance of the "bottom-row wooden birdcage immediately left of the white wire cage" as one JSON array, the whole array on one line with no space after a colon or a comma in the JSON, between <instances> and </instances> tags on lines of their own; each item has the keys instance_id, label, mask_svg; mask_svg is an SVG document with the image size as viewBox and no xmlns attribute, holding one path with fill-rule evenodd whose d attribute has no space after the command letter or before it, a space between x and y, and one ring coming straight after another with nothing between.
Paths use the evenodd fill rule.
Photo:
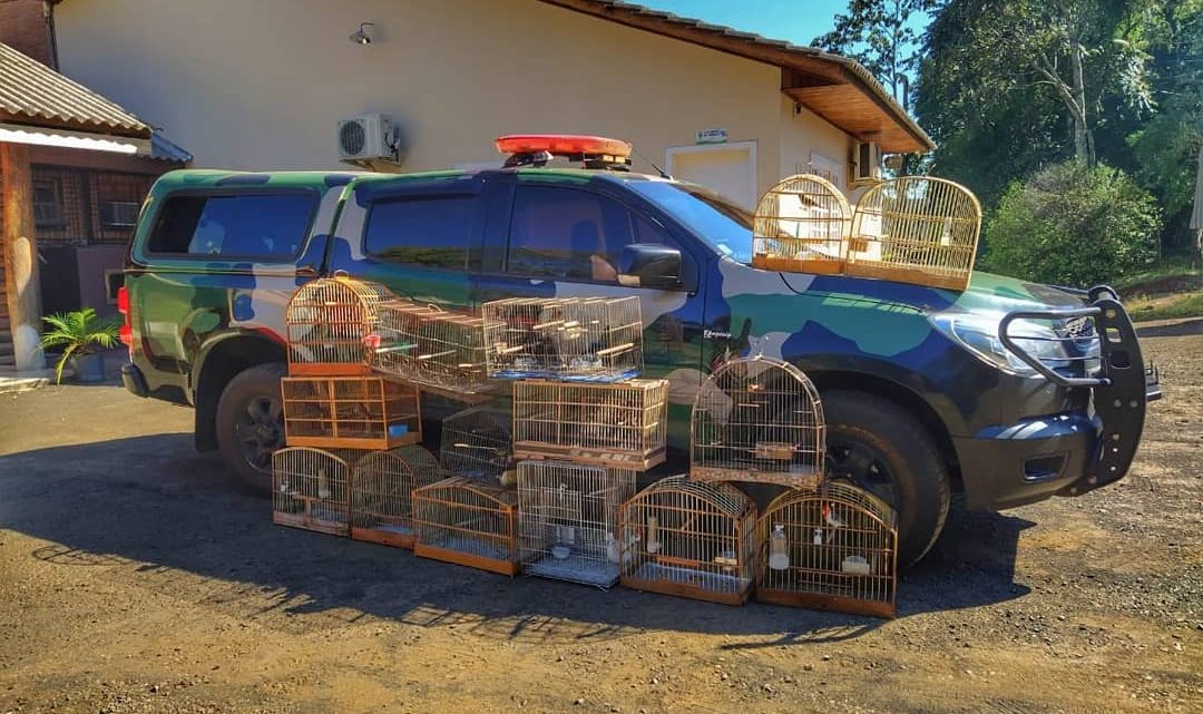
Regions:
<instances>
[{"instance_id":1,"label":"bottom-row wooden birdcage immediately left of the white wire cage","mask_svg":"<svg viewBox=\"0 0 1203 714\"><path fill-rule=\"evenodd\" d=\"M414 554L516 575L517 500L514 489L461 476L414 489Z\"/></svg>"}]
</instances>

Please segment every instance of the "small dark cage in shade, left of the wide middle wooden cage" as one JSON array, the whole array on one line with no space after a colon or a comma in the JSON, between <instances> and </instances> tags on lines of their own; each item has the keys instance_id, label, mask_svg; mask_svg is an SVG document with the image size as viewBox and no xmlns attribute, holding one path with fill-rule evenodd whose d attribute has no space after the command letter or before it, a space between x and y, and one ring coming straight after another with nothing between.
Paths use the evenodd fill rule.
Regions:
<instances>
[{"instance_id":1,"label":"small dark cage in shade, left of the wide middle wooden cage","mask_svg":"<svg viewBox=\"0 0 1203 714\"><path fill-rule=\"evenodd\" d=\"M439 460L454 476L500 483L512 456L514 417L496 404L470 406L443 420Z\"/></svg>"}]
</instances>

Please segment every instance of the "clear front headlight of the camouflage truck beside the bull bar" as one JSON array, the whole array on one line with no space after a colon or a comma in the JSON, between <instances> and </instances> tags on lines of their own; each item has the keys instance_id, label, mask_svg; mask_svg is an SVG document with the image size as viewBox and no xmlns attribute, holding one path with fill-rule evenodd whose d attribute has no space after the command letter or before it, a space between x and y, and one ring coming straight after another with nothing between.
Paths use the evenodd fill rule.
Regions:
<instances>
[{"instance_id":1,"label":"clear front headlight of the camouflage truck beside the bull bar","mask_svg":"<svg viewBox=\"0 0 1203 714\"><path fill-rule=\"evenodd\" d=\"M1037 376L1026 362L1013 355L998 339L998 315L940 313L929 317L940 332L972 352L983 362L1019 376ZM1066 340L1051 327L1031 320L1011 323L1011 338L1029 355L1050 369L1068 368L1074 359Z\"/></svg>"}]
</instances>

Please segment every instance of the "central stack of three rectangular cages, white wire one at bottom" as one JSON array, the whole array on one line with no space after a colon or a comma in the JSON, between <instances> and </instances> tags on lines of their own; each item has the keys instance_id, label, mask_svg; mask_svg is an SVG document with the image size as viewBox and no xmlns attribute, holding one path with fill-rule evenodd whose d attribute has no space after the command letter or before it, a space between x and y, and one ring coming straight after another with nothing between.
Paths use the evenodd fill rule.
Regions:
<instances>
[{"instance_id":1,"label":"central stack of three rectangular cages, white wire one at bottom","mask_svg":"<svg viewBox=\"0 0 1203 714\"><path fill-rule=\"evenodd\" d=\"M618 508L665 458L668 382L640 379L638 297L484 305L488 374L514 382L518 541L529 575L618 579Z\"/></svg>"}]
</instances>

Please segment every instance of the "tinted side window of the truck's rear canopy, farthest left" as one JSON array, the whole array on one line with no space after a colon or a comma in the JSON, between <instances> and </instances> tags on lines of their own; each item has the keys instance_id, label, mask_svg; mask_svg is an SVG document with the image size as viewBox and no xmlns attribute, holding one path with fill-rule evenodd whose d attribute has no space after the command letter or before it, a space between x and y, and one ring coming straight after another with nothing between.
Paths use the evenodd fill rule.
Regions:
<instances>
[{"instance_id":1,"label":"tinted side window of the truck's rear canopy, farthest left","mask_svg":"<svg viewBox=\"0 0 1203 714\"><path fill-rule=\"evenodd\" d=\"M297 194L178 195L159 209L152 254L292 257L301 252L314 196Z\"/></svg>"}]
</instances>

